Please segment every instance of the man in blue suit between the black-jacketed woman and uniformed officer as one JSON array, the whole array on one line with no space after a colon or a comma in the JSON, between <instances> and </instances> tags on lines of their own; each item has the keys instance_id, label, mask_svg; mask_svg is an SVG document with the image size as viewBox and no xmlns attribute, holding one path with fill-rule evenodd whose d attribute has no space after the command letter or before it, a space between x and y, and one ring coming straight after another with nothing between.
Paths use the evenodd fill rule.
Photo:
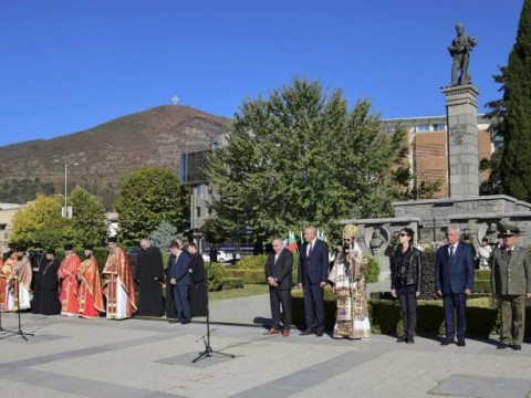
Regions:
<instances>
[{"instance_id":1,"label":"man in blue suit between the black-jacketed woman and uniformed officer","mask_svg":"<svg viewBox=\"0 0 531 398\"><path fill-rule=\"evenodd\" d=\"M465 347L467 329L467 295L473 289L473 255L470 247L460 242L457 226L446 230L448 244L437 250L435 262L435 290L442 297L446 320L446 338L440 345L454 343L454 314L457 314L457 345Z\"/></svg>"}]
</instances>

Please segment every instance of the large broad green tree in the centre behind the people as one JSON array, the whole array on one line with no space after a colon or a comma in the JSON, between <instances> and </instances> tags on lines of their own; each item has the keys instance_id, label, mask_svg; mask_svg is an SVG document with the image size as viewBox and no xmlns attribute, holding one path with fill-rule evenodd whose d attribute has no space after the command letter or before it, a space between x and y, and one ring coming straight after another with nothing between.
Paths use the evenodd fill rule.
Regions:
<instances>
[{"instance_id":1,"label":"large broad green tree in the centre behind the people","mask_svg":"<svg viewBox=\"0 0 531 398\"><path fill-rule=\"evenodd\" d=\"M233 235L333 231L341 219L392 213L406 154L405 130L384 134L368 101L348 109L340 90L294 78L235 115L209 157L211 206Z\"/></svg>"}]
</instances>

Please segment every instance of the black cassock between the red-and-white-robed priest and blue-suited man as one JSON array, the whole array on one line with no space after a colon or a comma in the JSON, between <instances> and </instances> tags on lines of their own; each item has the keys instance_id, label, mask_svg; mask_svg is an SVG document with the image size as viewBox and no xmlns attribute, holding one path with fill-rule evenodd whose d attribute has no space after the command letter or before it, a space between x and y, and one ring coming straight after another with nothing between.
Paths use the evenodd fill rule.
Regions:
<instances>
[{"instance_id":1,"label":"black cassock between the red-and-white-robed priest and blue-suited man","mask_svg":"<svg viewBox=\"0 0 531 398\"><path fill-rule=\"evenodd\" d=\"M140 316L163 316L163 254L155 247L143 250L136 260L135 279L138 282L138 312Z\"/></svg>"}]
</instances>

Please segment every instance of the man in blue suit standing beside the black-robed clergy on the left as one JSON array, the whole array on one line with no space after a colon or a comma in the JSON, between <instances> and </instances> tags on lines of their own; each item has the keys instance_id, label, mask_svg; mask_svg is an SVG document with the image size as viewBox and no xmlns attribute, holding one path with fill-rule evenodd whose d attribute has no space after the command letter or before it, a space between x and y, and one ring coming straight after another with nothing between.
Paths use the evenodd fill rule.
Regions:
<instances>
[{"instance_id":1,"label":"man in blue suit standing beside the black-robed clergy on the left","mask_svg":"<svg viewBox=\"0 0 531 398\"><path fill-rule=\"evenodd\" d=\"M174 290L175 313L176 318L169 321L170 323L189 324L191 318L190 310L190 276L189 264L190 258L188 253L183 250L184 242L177 239L169 245L169 251L175 256L169 268L169 283Z\"/></svg>"}]
</instances>

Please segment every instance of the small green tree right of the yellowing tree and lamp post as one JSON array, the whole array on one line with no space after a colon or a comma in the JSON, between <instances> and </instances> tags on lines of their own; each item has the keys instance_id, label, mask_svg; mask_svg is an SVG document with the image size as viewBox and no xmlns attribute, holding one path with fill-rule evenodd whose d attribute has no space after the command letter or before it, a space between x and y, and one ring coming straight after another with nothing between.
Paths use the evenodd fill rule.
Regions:
<instances>
[{"instance_id":1,"label":"small green tree right of the yellowing tree and lamp post","mask_svg":"<svg viewBox=\"0 0 531 398\"><path fill-rule=\"evenodd\" d=\"M72 219L69 220L69 232L72 242L101 245L107 235L105 224L105 208L93 195L80 186L70 193L69 201L72 206Z\"/></svg>"}]
</instances>

